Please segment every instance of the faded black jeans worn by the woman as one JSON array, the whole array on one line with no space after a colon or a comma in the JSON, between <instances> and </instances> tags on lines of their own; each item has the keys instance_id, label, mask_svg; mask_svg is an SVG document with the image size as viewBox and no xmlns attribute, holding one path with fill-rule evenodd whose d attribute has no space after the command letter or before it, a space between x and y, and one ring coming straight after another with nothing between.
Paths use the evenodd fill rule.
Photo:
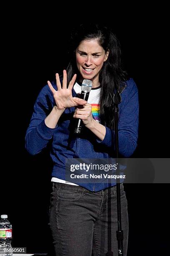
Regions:
<instances>
[{"instance_id":1,"label":"faded black jeans worn by the woman","mask_svg":"<svg viewBox=\"0 0 170 256\"><path fill-rule=\"evenodd\" d=\"M56 256L104 256L108 243L117 256L117 200L116 186L91 192L83 187L52 182L50 230ZM128 210L123 184L120 184L123 252L128 248ZM111 238L107 232L108 197Z\"/></svg>"}]
</instances>

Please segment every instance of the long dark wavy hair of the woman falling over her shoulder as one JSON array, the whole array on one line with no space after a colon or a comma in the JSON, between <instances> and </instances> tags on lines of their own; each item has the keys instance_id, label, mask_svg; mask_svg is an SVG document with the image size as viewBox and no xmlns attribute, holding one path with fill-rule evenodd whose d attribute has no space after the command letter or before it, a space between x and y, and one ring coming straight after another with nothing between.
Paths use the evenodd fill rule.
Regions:
<instances>
[{"instance_id":1,"label":"long dark wavy hair of the woman falling over her shoulder","mask_svg":"<svg viewBox=\"0 0 170 256\"><path fill-rule=\"evenodd\" d=\"M75 50L81 41L97 39L98 43L106 51L109 51L107 60L103 63L99 74L100 82L100 123L114 129L114 103L113 89L120 91L120 84L127 79L127 73L121 67L120 43L110 28L97 24L81 24L72 31L69 44L71 60L67 67L67 83L72 76L77 74ZM110 96L112 95L112 97Z\"/></svg>"}]
</instances>

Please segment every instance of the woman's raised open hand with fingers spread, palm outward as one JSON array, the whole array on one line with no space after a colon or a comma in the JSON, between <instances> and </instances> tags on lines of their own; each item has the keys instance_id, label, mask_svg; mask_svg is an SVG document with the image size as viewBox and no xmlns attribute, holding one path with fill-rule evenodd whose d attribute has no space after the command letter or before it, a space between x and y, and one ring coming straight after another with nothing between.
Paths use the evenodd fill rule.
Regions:
<instances>
[{"instance_id":1,"label":"woman's raised open hand with fingers spread, palm outward","mask_svg":"<svg viewBox=\"0 0 170 256\"><path fill-rule=\"evenodd\" d=\"M58 110L63 110L65 108L76 107L78 105L85 105L87 103L86 100L82 100L77 97L72 97L72 87L75 83L76 74L72 77L68 88L67 88L67 72L63 70L63 80L62 80L62 88L60 83L59 74L56 74L56 82L57 82L57 91L52 87L50 81L47 81L50 90L53 93L53 97L55 99L56 107Z\"/></svg>"}]
</instances>

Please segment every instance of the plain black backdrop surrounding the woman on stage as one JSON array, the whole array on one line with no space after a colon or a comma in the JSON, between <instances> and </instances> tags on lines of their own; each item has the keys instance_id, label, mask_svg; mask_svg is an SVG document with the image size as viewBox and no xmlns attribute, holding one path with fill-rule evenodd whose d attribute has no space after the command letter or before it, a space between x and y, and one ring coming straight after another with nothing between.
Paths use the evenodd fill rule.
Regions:
<instances>
[{"instance_id":1,"label":"plain black backdrop surrounding the woman on stage","mask_svg":"<svg viewBox=\"0 0 170 256\"><path fill-rule=\"evenodd\" d=\"M0 214L7 214L13 225L13 246L27 247L28 253L45 253L51 241L47 223L52 164L47 151L30 156L24 138L37 94L55 72L67 66L70 29L75 23L94 20L114 28L125 69L139 90L135 158L165 158L169 153L168 80L162 59L166 29L159 6L156 12L139 5L122 13L117 7L108 12L108 6L103 9L101 5L90 6L89 12L85 7L72 8L69 14L65 7L50 4L43 11L42 5L20 6L21 12L18 8L4 9L2 26ZM130 223L128 256L168 255L169 184L124 187Z\"/></svg>"}]
</instances>

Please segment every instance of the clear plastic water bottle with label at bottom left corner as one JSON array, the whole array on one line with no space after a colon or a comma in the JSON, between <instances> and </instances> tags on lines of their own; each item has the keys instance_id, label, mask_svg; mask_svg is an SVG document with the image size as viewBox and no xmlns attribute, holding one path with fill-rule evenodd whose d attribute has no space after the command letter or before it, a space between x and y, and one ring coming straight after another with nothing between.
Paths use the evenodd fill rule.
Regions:
<instances>
[{"instance_id":1,"label":"clear plastic water bottle with label at bottom left corner","mask_svg":"<svg viewBox=\"0 0 170 256\"><path fill-rule=\"evenodd\" d=\"M12 225L7 219L7 215L0 217L0 256L12 256Z\"/></svg>"}]
</instances>

